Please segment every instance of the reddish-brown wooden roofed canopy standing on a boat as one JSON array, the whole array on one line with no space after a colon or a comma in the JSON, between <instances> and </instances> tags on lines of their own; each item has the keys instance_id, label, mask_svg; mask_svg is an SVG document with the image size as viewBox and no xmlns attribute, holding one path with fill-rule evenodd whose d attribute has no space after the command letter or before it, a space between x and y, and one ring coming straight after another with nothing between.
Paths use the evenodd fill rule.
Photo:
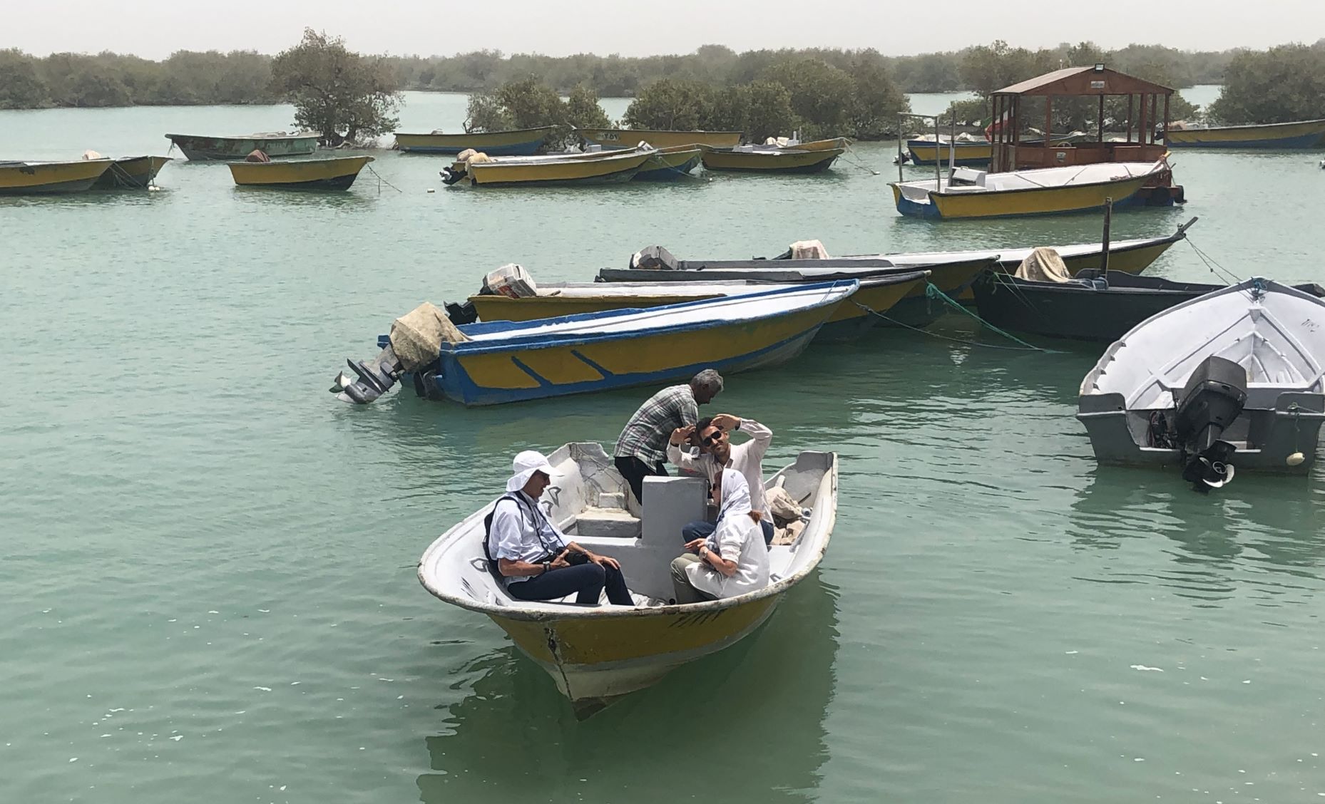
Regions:
<instances>
[{"instance_id":1,"label":"reddish-brown wooden roofed canopy standing on a boat","mask_svg":"<svg viewBox=\"0 0 1325 804\"><path fill-rule=\"evenodd\" d=\"M1110 70L1102 64L1088 68L1065 68L1045 73L995 91L994 123L990 138L994 144L991 172L1007 172L1037 167L1065 167L1098 162L1158 162L1166 147L1155 143L1155 130L1169 127L1169 97L1173 89ZM1128 128L1125 142L1104 140L1104 101L1109 95L1128 97ZM1055 98L1098 98L1096 138L1052 144L1048 140L1022 143L1022 130L1039 125L1037 111L1027 114L1024 98L1044 98L1044 131L1053 130ZM1181 188L1179 188L1181 189ZM1181 193L1179 193L1181 195Z\"/></svg>"}]
</instances>

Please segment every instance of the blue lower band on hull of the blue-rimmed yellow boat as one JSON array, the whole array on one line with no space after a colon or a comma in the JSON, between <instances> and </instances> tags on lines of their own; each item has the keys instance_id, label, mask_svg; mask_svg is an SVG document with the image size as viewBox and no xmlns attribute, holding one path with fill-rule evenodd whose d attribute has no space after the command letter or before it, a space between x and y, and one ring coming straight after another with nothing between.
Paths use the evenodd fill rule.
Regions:
<instances>
[{"instance_id":1,"label":"blue lower band on hull of the blue-rimmed yellow boat","mask_svg":"<svg viewBox=\"0 0 1325 804\"><path fill-rule=\"evenodd\" d=\"M549 383L534 375L530 370L525 368L525 371L539 383L537 388L478 387L469 379L469 375L460 367L454 356L443 355L443 374L433 381L436 383L437 391L444 393L448 399L458 401L464 405L497 405L504 403L547 399L550 396L567 396L571 393L588 393L592 391L611 391L615 388L629 388L632 385L666 383L670 380L692 377L702 368L716 368L719 372L750 371L751 368L772 366L795 358L806 348L818 332L819 327L816 326L758 352L730 358L727 360L702 360L700 363L673 366L670 368L649 372L607 374L600 380L570 383L566 385ZM623 342L621 346L623 348L629 348L629 342ZM584 358L580 359L583 360ZM586 363L587 362L588 360L586 360Z\"/></svg>"}]
</instances>

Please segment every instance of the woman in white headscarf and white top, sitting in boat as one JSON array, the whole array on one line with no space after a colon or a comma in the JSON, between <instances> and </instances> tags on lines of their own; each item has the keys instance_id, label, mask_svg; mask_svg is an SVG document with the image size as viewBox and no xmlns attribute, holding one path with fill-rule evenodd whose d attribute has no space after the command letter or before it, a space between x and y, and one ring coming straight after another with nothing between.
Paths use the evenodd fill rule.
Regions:
<instances>
[{"instance_id":1,"label":"woman in white headscarf and white top, sitting in boat","mask_svg":"<svg viewBox=\"0 0 1325 804\"><path fill-rule=\"evenodd\" d=\"M768 547L759 531L759 511L750 510L750 485L734 469L713 483L718 525L708 538L686 542L672 560L676 603L735 597L768 585Z\"/></svg>"}]
</instances>

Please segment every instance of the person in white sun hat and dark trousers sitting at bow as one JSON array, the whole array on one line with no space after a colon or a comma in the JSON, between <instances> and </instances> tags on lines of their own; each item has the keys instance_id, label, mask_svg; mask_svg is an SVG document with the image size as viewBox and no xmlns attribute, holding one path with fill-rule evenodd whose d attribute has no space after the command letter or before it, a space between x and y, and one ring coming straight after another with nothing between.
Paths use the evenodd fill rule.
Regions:
<instances>
[{"instance_id":1,"label":"person in white sun hat and dark trousers sitting at bow","mask_svg":"<svg viewBox=\"0 0 1325 804\"><path fill-rule=\"evenodd\" d=\"M484 552L510 596L556 600L575 593L575 603L598 603L606 588L608 603L635 605L621 564L568 542L538 507L556 476L547 457L526 449L515 456L511 472L484 540Z\"/></svg>"}]
</instances>

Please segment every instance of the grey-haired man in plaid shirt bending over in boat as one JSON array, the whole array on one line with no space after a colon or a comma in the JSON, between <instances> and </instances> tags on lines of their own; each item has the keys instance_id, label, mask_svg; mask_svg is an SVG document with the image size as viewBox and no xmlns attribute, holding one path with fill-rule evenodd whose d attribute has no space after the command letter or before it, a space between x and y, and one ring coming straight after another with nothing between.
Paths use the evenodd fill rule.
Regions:
<instances>
[{"instance_id":1,"label":"grey-haired man in plaid shirt bending over in boat","mask_svg":"<svg viewBox=\"0 0 1325 804\"><path fill-rule=\"evenodd\" d=\"M666 445L672 432L700 420L700 405L705 405L722 391L722 375L705 368L688 385L669 385L648 399L625 423L616 440L616 470L631 485L635 499L640 501L644 478L651 474L666 476Z\"/></svg>"}]
</instances>

